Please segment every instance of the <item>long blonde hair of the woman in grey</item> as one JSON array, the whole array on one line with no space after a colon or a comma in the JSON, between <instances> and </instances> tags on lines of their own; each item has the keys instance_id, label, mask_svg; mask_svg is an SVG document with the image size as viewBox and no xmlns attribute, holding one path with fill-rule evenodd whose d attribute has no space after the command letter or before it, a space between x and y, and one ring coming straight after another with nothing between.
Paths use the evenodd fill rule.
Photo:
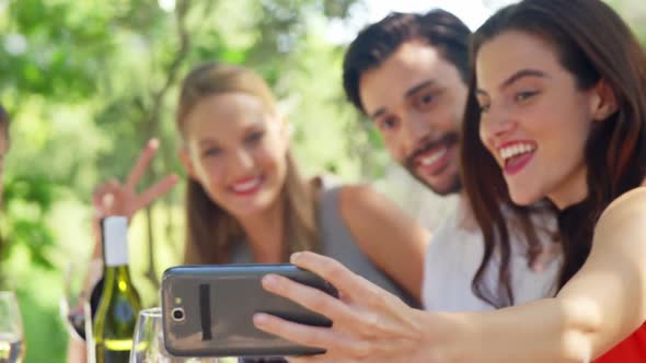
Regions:
<instances>
[{"instance_id":1,"label":"long blonde hair of the woman in grey","mask_svg":"<svg viewBox=\"0 0 646 363\"><path fill-rule=\"evenodd\" d=\"M266 82L255 72L230 65L206 63L184 79L176 114L177 130L184 138L186 116L201 99L214 94L243 92L262 101L268 113L276 102ZM318 250L315 190L298 173L287 153L287 176L279 198L285 199L284 260L297 250ZM231 248L245 236L235 218L215 203L203 186L189 178L186 187L186 264L226 264Z\"/></svg>"}]
</instances>

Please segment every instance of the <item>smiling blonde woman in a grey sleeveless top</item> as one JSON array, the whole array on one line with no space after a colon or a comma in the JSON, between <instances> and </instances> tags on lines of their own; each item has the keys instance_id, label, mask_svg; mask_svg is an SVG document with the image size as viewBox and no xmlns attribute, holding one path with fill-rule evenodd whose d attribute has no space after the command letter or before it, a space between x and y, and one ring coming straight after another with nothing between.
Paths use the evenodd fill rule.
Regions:
<instances>
[{"instance_id":1,"label":"smiling blonde woman in a grey sleeveless top","mask_svg":"<svg viewBox=\"0 0 646 363\"><path fill-rule=\"evenodd\" d=\"M301 177L288 125L255 72L221 63L194 69L176 122L189 177L186 264L277 264L316 250L419 301L427 232L368 186Z\"/></svg>"}]
</instances>

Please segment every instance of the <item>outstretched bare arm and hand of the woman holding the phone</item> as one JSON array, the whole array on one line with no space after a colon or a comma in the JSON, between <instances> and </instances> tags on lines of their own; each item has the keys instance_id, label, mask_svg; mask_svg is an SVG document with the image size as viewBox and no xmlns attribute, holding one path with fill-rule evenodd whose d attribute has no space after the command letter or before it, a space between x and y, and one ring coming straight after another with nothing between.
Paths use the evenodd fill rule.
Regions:
<instances>
[{"instance_id":1,"label":"outstretched bare arm and hand of the woman holding the phone","mask_svg":"<svg viewBox=\"0 0 646 363\"><path fill-rule=\"evenodd\" d=\"M592 250L556 297L487 313L405 306L337 261L312 253L292 261L332 282L341 300L268 276L265 289L330 317L314 328L258 314L259 329L327 350L292 362L589 362L646 320L646 188L601 216Z\"/></svg>"}]
</instances>

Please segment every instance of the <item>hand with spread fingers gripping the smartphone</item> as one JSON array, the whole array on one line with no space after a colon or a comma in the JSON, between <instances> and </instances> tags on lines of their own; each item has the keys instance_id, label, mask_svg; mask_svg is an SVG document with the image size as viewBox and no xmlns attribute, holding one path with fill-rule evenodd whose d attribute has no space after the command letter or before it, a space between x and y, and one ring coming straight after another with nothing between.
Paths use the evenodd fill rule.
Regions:
<instances>
[{"instance_id":1,"label":"hand with spread fingers gripping the smartphone","mask_svg":"<svg viewBox=\"0 0 646 363\"><path fill-rule=\"evenodd\" d=\"M262 330L326 350L325 354L290 358L289 362L435 362L423 341L428 320L425 313L408 307L328 257L299 253L291 261L330 281L341 292L341 298L282 277L270 274L263 279L267 291L334 321L332 328L320 328L267 314L254 316L254 324Z\"/></svg>"}]
</instances>

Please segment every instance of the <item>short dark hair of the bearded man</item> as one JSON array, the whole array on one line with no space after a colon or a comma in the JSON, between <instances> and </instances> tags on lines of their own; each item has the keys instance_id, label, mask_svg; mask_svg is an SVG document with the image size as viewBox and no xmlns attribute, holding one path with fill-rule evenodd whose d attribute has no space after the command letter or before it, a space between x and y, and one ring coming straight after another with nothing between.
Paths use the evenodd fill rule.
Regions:
<instances>
[{"instance_id":1,"label":"short dark hair of the bearded man","mask_svg":"<svg viewBox=\"0 0 646 363\"><path fill-rule=\"evenodd\" d=\"M359 80L381 66L404 43L418 40L436 47L451 62L464 83L469 82L469 38L471 31L455 15L440 10L426 14L390 13L364 28L350 44L343 62L343 86L347 98L361 112Z\"/></svg>"}]
</instances>

